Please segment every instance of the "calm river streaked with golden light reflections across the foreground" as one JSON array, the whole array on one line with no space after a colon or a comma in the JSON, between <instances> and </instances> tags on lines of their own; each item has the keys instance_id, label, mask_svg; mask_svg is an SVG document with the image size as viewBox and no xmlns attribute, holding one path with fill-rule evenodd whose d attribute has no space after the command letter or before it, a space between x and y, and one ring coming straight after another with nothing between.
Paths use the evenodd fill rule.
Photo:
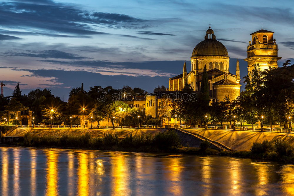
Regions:
<instances>
[{"instance_id":1,"label":"calm river streaked with golden light reflections across the foreground","mask_svg":"<svg viewBox=\"0 0 294 196\"><path fill-rule=\"evenodd\" d=\"M291 195L294 165L251 159L0 147L0 195Z\"/></svg>"}]
</instances>

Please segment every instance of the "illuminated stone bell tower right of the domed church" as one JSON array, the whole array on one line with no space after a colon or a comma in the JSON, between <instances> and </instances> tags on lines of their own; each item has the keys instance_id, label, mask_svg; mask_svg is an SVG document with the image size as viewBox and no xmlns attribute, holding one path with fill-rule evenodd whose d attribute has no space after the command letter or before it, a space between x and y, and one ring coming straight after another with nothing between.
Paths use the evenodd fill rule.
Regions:
<instances>
[{"instance_id":1,"label":"illuminated stone bell tower right of the domed church","mask_svg":"<svg viewBox=\"0 0 294 196\"><path fill-rule=\"evenodd\" d=\"M253 69L254 64L260 65L260 70L268 67L278 67L278 45L273 39L274 32L260 29L251 35L251 41L247 46L248 72Z\"/></svg>"}]
</instances>

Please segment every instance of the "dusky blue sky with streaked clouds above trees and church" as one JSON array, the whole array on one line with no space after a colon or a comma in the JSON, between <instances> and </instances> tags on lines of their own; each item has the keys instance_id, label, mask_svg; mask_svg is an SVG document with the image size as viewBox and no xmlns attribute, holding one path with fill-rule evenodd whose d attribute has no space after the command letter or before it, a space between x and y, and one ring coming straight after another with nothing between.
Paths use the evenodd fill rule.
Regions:
<instances>
[{"instance_id":1,"label":"dusky blue sky with streaked clouds above trees and church","mask_svg":"<svg viewBox=\"0 0 294 196\"><path fill-rule=\"evenodd\" d=\"M149 92L168 87L183 70L208 24L247 74L250 33L274 31L279 64L294 58L293 1L16 0L0 2L0 80L4 95L49 88L66 101L69 91L123 85ZM244 84L243 84L244 86Z\"/></svg>"}]
</instances>

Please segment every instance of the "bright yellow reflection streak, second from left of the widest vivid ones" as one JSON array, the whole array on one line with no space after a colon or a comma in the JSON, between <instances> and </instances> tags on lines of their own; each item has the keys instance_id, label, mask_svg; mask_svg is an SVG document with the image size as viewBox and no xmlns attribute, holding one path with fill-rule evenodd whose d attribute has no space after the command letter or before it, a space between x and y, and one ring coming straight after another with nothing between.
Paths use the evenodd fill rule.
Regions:
<instances>
[{"instance_id":1,"label":"bright yellow reflection streak, second from left of the widest vivid ones","mask_svg":"<svg viewBox=\"0 0 294 196\"><path fill-rule=\"evenodd\" d=\"M88 154L78 153L78 194L88 195L89 171L88 171Z\"/></svg>"}]
</instances>

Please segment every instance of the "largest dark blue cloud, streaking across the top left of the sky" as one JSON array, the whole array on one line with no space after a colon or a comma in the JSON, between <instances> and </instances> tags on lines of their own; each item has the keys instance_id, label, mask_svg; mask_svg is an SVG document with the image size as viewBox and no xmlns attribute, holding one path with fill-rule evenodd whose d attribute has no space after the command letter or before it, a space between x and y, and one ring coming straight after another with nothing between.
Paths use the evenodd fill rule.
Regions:
<instances>
[{"instance_id":1,"label":"largest dark blue cloud, streaking across the top left of the sky","mask_svg":"<svg viewBox=\"0 0 294 196\"><path fill-rule=\"evenodd\" d=\"M0 25L50 30L76 35L108 34L96 27L144 29L149 21L117 13L91 12L54 1L0 3Z\"/></svg>"}]
</instances>

